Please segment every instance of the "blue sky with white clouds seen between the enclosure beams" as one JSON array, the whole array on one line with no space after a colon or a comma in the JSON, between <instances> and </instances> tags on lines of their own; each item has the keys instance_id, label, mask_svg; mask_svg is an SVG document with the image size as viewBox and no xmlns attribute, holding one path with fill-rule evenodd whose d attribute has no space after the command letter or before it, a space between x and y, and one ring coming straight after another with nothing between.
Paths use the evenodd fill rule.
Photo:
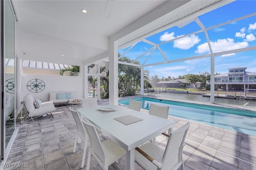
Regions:
<instances>
[{"instance_id":1,"label":"blue sky with white clouds seen between the enclosure beams","mask_svg":"<svg viewBox=\"0 0 256 170\"><path fill-rule=\"evenodd\" d=\"M208 28L255 12L255 0L237 0L198 16L198 19L202 22L204 27ZM195 21L192 21L182 28L175 26L147 37L146 40L160 44L199 30L201 29L198 24ZM210 29L207 33L213 53L256 46L256 16L251 16L243 20L238 20ZM124 56L129 57L131 60L140 57L140 59L138 59L140 64L143 64L145 61L144 64L165 61L158 49L155 49L153 52L150 50L152 47L153 46L148 43L139 42ZM176 60L210 53L204 32L174 40L169 43L164 43L159 45L159 47L168 60ZM126 49L119 49L118 52L122 55L127 49L129 49L129 47ZM148 53L146 53L147 51ZM144 53L146 54L142 56ZM150 53L152 54L150 55ZM150 57L148 58L149 55ZM146 60L147 58L148 60ZM234 67L247 67L246 71L256 72L256 50L216 56L214 58L214 63L214 73L217 72L223 74L228 72L228 68ZM156 74L159 78L168 76L177 78L178 76L185 74L200 74L200 72L210 73L210 57L147 66L144 67L144 70L149 71L150 77Z\"/></svg>"}]
</instances>

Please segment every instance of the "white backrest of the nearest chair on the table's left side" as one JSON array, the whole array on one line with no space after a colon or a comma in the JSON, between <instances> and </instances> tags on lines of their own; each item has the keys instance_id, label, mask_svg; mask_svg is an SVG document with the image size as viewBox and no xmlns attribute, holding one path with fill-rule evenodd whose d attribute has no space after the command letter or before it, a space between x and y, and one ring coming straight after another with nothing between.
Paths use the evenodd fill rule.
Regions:
<instances>
[{"instance_id":1,"label":"white backrest of the nearest chair on the table's left side","mask_svg":"<svg viewBox=\"0 0 256 170\"><path fill-rule=\"evenodd\" d=\"M98 158L100 158L100 160L102 161L102 164L105 165L105 154L102 149L100 138L98 136L95 126L84 120L84 117L81 117L81 119L90 139L90 150L92 154L94 154L94 156L96 154L96 156L98 156Z\"/></svg>"}]
</instances>

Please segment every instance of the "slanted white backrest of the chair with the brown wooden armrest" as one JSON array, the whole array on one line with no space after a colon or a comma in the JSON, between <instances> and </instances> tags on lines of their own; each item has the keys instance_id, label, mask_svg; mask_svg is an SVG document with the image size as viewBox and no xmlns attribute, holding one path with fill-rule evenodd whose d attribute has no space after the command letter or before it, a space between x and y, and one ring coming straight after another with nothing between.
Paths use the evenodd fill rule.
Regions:
<instances>
[{"instance_id":1,"label":"slanted white backrest of the chair with the brown wooden armrest","mask_svg":"<svg viewBox=\"0 0 256 170\"><path fill-rule=\"evenodd\" d=\"M162 170L176 169L182 164L182 150L190 122L183 125L176 131L170 133L164 155L162 158Z\"/></svg>"}]
</instances>

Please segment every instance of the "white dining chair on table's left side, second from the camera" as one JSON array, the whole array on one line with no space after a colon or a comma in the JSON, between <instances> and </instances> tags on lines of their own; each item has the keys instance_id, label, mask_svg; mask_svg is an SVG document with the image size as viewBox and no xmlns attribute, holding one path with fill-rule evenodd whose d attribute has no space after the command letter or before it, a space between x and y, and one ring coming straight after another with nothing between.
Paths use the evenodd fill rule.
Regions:
<instances>
[{"instance_id":1,"label":"white dining chair on table's left side, second from the camera","mask_svg":"<svg viewBox=\"0 0 256 170\"><path fill-rule=\"evenodd\" d=\"M82 164L81 164L81 168L83 168L85 155L86 155L86 147L87 147L87 142L89 140L89 137L86 133L84 125L82 124L82 120L80 118L78 111L72 109L71 107L69 107L69 109L70 109L72 116L74 117L74 121L76 123L76 137L75 137L75 142L74 142L73 153L76 152L76 143L81 143L81 139L84 141L84 150L83 150L83 157L82 157ZM100 133L102 133L102 132L98 130L97 134L100 134Z\"/></svg>"}]
</instances>

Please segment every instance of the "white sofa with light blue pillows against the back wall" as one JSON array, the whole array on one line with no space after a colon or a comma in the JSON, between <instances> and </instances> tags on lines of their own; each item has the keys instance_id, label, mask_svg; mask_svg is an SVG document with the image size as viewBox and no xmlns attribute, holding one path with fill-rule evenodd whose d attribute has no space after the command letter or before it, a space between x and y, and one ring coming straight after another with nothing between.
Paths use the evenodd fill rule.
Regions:
<instances>
[{"instance_id":1,"label":"white sofa with light blue pillows against the back wall","mask_svg":"<svg viewBox=\"0 0 256 170\"><path fill-rule=\"evenodd\" d=\"M68 104L68 102L71 102L75 99L79 99L79 100L83 99L83 98L79 97L79 92L78 91L49 92L49 101L52 102L53 104Z\"/></svg>"}]
</instances>

